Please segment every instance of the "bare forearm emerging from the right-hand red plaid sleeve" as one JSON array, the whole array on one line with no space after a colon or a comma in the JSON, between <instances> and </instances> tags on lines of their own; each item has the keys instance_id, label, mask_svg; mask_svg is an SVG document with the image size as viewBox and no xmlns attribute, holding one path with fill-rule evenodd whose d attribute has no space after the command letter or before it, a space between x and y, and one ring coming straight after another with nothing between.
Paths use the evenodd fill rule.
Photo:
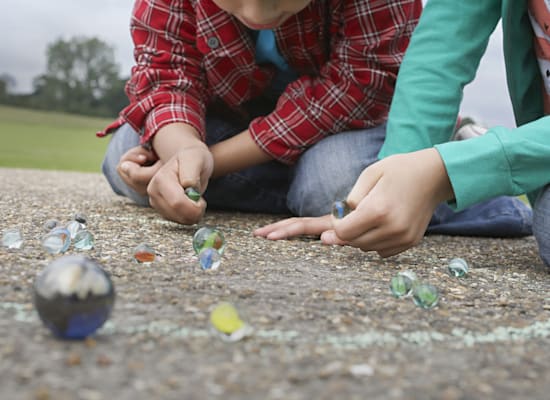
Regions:
<instances>
[{"instance_id":1,"label":"bare forearm emerging from the right-hand red plaid sleeve","mask_svg":"<svg viewBox=\"0 0 550 400\"><path fill-rule=\"evenodd\" d=\"M248 130L216 143L210 151L214 157L213 178L272 160L254 142Z\"/></svg>"}]
</instances>

